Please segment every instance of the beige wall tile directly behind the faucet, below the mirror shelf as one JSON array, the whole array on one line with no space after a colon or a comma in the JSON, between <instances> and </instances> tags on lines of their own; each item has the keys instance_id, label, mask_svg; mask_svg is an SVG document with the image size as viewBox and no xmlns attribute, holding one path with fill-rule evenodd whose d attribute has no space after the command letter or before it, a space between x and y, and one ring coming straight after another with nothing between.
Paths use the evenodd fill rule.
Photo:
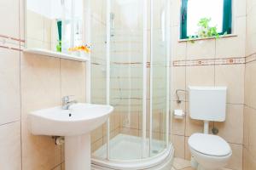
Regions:
<instances>
[{"instance_id":1,"label":"beige wall tile directly behind the faucet, below the mirror shelf","mask_svg":"<svg viewBox=\"0 0 256 170\"><path fill-rule=\"evenodd\" d=\"M85 64L61 59L61 97L74 95L73 99L85 102Z\"/></svg>"}]
</instances>

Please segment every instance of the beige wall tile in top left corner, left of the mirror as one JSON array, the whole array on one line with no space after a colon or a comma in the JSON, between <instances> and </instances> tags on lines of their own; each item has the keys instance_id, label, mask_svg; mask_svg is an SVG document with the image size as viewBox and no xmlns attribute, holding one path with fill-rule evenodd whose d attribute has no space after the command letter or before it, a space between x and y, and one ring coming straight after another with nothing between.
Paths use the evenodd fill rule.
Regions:
<instances>
[{"instance_id":1,"label":"beige wall tile in top left corner, left of the mirror","mask_svg":"<svg viewBox=\"0 0 256 170\"><path fill-rule=\"evenodd\" d=\"M19 0L0 1L1 35L20 38L19 8Z\"/></svg>"}]
</instances>

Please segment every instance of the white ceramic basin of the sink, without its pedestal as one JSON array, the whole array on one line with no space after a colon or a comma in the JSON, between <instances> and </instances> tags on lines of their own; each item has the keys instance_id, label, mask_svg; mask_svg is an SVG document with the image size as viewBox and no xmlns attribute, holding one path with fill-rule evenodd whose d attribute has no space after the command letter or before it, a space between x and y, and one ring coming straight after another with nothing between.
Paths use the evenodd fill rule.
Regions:
<instances>
[{"instance_id":1,"label":"white ceramic basin of the sink, without its pedestal","mask_svg":"<svg viewBox=\"0 0 256 170\"><path fill-rule=\"evenodd\" d=\"M111 105L74 104L69 110L61 106L33 111L28 115L30 130L36 135L74 136L96 129L113 111Z\"/></svg>"}]
</instances>

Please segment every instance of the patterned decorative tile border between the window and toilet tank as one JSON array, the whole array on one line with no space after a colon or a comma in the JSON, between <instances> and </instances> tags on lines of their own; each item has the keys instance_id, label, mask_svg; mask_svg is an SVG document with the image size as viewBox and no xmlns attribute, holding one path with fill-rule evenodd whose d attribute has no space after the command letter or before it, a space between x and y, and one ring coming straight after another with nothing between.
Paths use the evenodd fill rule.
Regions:
<instances>
[{"instance_id":1,"label":"patterned decorative tile border between the window and toilet tank","mask_svg":"<svg viewBox=\"0 0 256 170\"><path fill-rule=\"evenodd\" d=\"M246 58L174 60L172 66L237 65L245 64Z\"/></svg>"}]
</instances>

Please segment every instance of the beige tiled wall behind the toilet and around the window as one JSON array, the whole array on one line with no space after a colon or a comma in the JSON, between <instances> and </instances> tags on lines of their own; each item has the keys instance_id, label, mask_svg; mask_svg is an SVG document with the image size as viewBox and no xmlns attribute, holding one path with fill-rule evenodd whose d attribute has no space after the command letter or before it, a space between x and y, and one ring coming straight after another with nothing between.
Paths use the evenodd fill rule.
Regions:
<instances>
[{"instance_id":1,"label":"beige tiled wall behind the toilet and around the window","mask_svg":"<svg viewBox=\"0 0 256 170\"><path fill-rule=\"evenodd\" d=\"M225 122L212 122L218 135L231 146L233 155L227 167L242 169L243 105L246 46L246 3L234 0L234 36L179 42L179 0L172 0L172 111L186 112L183 120L172 119L172 142L176 156L190 159L188 139L192 133L203 132L203 122L189 117L187 93L180 92L181 104L177 104L177 89L188 86L227 86L227 115ZM210 129L211 129L210 128Z\"/></svg>"}]
</instances>

